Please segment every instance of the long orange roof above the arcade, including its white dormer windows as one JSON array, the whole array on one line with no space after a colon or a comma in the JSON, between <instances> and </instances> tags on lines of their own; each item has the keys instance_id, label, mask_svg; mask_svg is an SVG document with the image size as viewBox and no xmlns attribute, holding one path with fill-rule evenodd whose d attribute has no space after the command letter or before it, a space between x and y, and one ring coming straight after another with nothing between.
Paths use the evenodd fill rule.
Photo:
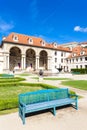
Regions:
<instances>
[{"instance_id":1,"label":"long orange roof above the arcade, including its white dormer windows","mask_svg":"<svg viewBox=\"0 0 87 130\"><path fill-rule=\"evenodd\" d=\"M37 46L37 47L55 49L55 50L59 50L59 51L71 52L71 50L68 47L63 47L61 45L58 46L58 44L55 42L47 43L42 38L28 36L28 35L24 35L24 34L18 34L18 33L14 33L14 32L10 33L7 37L3 38L3 43L4 42Z\"/></svg>"}]
</instances>

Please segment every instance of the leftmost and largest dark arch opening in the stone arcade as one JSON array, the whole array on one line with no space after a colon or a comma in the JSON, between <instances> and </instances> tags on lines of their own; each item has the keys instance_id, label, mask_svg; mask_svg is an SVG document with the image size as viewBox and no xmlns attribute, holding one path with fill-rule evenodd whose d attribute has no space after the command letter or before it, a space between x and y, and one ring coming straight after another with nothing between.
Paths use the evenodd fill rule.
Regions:
<instances>
[{"instance_id":1,"label":"leftmost and largest dark arch opening in the stone arcade","mask_svg":"<svg viewBox=\"0 0 87 130\"><path fill-rule=\"evenodd\" d=\"M12 47L9 53L9 69L21 69L21 50L18 47Z\"/></svg>"}]
</instances>

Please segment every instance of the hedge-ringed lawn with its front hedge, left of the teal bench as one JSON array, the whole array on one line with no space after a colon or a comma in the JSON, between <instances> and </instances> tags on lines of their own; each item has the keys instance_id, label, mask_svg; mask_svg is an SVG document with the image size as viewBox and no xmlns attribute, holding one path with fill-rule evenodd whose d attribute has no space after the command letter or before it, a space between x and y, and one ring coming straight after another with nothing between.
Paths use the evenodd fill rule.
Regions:
<instances>
[{"instance_id":1,"label":"hedge-ringed lawn with its front hedge, left of the teal bench","mask_svg":"<svg viewBox=\"0 0 87 130\"><path fill-rule=\"evenodd\" d=\"M0 87L0 110L18 107L18 95L28 91L43 89L38 86L7 86Z\"/></svg>"}]
</instances>

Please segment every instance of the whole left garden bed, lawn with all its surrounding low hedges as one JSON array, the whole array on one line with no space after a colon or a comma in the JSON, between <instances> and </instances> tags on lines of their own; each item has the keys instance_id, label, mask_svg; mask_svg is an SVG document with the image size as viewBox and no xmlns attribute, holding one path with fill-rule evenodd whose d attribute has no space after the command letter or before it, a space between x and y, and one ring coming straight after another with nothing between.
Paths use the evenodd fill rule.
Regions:
<instances>
[{"instance_id":1,"label":"whole left garden bed, lawn with all its surrounding low hedges","mask_svg":"<svg viewBox=\"0 0 87 130\"><path fill-rule=\"evenodd\" d=\"M23 78L0 79L0 113L18 107L18 95L29 91L56 88L40 83L22 83Z\"/></svg>"}]
</instances>

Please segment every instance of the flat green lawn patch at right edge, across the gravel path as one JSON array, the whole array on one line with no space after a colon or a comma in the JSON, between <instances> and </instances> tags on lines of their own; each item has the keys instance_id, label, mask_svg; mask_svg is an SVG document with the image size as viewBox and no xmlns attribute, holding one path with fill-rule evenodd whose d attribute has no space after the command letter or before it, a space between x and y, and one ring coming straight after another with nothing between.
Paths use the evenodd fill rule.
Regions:
<instances>
[{"instance_id":1,"label":"flat green lawn patch at right edge, across the gravel path","mask_svg":"<svg viewBox=\"0 0 87 130\"><path fill-rule=\"evenodd\" d=\"M62 85L87 90L87 80L62 81Z\"/></svg>"}]
</instances>

